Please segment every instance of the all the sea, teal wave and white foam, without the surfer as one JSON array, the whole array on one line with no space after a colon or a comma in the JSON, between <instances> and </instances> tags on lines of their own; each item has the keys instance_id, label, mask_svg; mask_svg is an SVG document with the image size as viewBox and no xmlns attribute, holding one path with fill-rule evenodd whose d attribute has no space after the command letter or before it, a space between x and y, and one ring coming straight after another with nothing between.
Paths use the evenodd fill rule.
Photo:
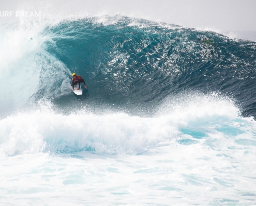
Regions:
<instances>
[{"instance_id":1,"label":"all the sea, teal wave and white foam, without the surfer","mask_svg":"<svg viewBox=\"0 0 256 206\"><path fill-rule=\"evenodd\" d=\"M255 78L256 42L213 31L2 24L0 205L256 205Z\"/></svg>"}]
</instances>

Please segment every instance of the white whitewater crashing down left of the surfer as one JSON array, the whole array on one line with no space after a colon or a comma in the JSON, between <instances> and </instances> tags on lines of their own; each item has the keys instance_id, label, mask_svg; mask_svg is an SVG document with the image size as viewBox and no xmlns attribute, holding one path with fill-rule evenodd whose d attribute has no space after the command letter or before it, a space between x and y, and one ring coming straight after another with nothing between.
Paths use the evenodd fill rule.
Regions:
<instances>
[{"instance_id":1,"label":"white whitewater crashing down left of the surfer","mask_svg":"<svg viewBox=\"0 0 256 206\"><path fill-rule=\"evenodd\" d=\"M54 88L54 84L63 82L70 72L42 48L43 42L51 40L50 36L42 35L43 28L33 22L0 27L0 87L4 88L0 92L0 114L32 101L40 89L46 96L65 92L67 82L61 89Z\"/></svg>"}]
</instances>

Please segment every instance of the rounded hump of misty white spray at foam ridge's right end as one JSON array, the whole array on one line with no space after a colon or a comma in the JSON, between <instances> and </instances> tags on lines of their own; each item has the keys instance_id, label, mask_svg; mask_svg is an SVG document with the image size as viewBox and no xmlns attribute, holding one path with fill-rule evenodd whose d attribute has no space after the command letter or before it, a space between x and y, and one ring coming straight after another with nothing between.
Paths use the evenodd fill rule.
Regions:
<instances>
[{"instance_id":1,"label":"rounded hump of misty white spray at foam ridge's right end","mask_svg":"<svg viewBox=\"0 0 256 206\"><path fill-rule=\"evenodd\" d=\"M166 98L158 114L187 122L214 116L234 119L240 115L240 110L234 101L219 93L184 92Z\"/></svg>"}]
</instances>

